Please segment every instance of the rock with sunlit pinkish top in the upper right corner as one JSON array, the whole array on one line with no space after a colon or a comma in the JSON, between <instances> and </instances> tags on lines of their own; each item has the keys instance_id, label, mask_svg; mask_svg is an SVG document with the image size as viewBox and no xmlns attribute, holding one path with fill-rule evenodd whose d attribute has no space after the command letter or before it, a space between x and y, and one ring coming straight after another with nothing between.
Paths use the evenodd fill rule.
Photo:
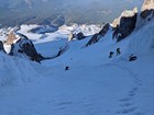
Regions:
<instances>
[{"instance_id":1,"label":"rock with sunlit pinkish top in the upper right corner","mask_svg":"<svg viewBox=\"0 0 154 115\"><path fill-rule=\"evenodd\" d=\"M151 20L152 16L154 16L154 0L144 0L141 18Z\"/></svg>"}]
</instances>

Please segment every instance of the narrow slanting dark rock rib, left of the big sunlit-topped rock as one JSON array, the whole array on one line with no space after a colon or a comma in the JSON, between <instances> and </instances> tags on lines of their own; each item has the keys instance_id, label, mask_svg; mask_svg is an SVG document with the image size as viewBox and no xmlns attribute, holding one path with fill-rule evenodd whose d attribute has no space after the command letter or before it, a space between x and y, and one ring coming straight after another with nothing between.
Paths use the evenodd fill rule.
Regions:
<instances>
[{"instance_id":1,"label":"narrow slanting dark rock rib, left of the big sunlit-topped rock","mask_svg":"<svg viewBox=\"0 0 154 115\"><path fill-rule=\"evenodd\" d=\"M92 44L97 43L102 36L105 36L107 34L107 32L109 31L109 28L110 28L110 24L107 23L99 33L95 34L91 37L91 39L86 44L86 47L89 46L89 45L92 45Z\"/></svg>"}]
</instances>

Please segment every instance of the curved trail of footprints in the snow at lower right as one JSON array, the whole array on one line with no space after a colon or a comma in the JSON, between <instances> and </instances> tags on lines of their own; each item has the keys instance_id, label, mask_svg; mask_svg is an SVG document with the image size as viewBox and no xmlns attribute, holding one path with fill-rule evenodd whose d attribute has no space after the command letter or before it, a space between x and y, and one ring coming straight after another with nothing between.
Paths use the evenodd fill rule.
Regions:
<instances>
[{"instance_id":1,"label":"curved trail of footprints in the snow at lower right","mask_svg":"<svg viewBox=\"0 0 154 115\"><path fill-rule=\"evenodd\" d=\"M117 68L128 71L134 82L134 87L131 88L131 90L128 92L128 95L119 100L120 110L117 111L116 114L117 115L144 115L144 113L138 112L136 103L133 101L138 95L138 90L142 85L142 80L140 79L140 77L136 73L134 73L131 69L120 66L118 64L106 64L105 66L114 66Z\"/></svg>"}]
</instances>

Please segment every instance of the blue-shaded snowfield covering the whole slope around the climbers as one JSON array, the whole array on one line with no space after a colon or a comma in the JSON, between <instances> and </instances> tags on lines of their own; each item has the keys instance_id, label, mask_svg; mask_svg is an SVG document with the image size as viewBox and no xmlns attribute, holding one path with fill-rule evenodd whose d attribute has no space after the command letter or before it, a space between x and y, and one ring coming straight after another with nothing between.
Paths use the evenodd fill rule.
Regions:
<instances>
[{"instance_id":1,"label":"blue-shaded snowfield covering the whole slope around the climbers","mask_svg":"<svg viewBox=\"0 0 154 115\"><path fill-rule=\"evenodd\" d=\"M45 56L69 47L41 65L0 53L0 115L154 115L153 22L120 43L109 31L86 48L90 36L67 42L67 26L44 38L20 32ZM118 47L121 55L109 59Z\"/></svg>"}]
</instances>

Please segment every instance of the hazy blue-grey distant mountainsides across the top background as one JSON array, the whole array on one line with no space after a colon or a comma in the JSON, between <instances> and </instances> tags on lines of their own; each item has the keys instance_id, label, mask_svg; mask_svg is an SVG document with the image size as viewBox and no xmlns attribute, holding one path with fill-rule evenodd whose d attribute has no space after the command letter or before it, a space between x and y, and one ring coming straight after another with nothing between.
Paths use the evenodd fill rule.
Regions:
<instances>
[{"instance_id":1,"label":"hazy blue-grey distant mountainsides across the top background","mask_svg":"<svg viewBox=\"0 0 154 115\"><path fill-rule=\"evenodd\" d=\"M143 0L1 0L0 24L42 23L63 16L65 23L111 22L123 10L140 7Z\"/></svg>"}]
</instances>

